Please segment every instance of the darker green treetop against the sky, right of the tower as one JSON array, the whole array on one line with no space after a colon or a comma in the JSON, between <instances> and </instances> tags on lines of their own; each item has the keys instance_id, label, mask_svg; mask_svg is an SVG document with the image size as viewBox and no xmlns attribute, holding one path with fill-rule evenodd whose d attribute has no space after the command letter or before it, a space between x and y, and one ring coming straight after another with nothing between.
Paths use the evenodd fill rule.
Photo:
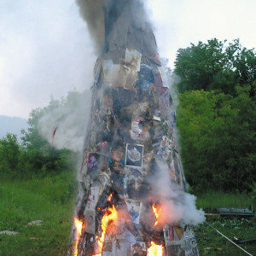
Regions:
<instances>
[{"instance_id":1,"label":"darker green treetop against the sky, right of the tower","mask_svg":"<svg viewBox=\"0 0 256 256\"><path fill-rule=\"evenodd\" d=\"M191 44L178 49L175 73L180 77L177 88L186 90L222 90L236 94L236 85L251 85L253 95L256 79L256 55L254 49L241 46L238 39L230 44L214 38L206 44Z\"/></svg>"}]
</instances>

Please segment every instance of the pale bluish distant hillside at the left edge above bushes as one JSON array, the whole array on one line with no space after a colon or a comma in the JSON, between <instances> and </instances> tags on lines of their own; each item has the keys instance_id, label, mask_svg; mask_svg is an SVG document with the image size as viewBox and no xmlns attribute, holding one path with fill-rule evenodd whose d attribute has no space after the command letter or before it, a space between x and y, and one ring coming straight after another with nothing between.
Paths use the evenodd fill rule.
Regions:
<instances>
[{"instance_id":1,"label":"pale bluish distant hillside at the left edge above bushes","mask_svg":"<svg viewBox=\"0 0 256 256\"><path fill-rule=\"evenodd\" d=\"M26 119L0 115L0 138L5 137L8 132L13 133L20 138L21 129L26 130L27 127Z\"/></svg>"}]
</instances>

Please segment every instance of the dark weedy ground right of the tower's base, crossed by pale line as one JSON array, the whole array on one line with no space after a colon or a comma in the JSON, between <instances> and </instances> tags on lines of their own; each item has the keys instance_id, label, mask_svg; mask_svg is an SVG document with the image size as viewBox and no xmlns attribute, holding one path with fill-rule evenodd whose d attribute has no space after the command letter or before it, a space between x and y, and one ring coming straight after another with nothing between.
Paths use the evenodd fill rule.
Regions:
<instances>
[{"instance_id":1,"label":"dark weedy ground right of the tower's base, crossed by pale line","mask_svg":"<svg viewBox=\"0 0 256 256\"><path fill-rule=\"evenodd\" d=\"M253 196L241 193L226 193L221 191L207 191L197 195L197 207L206 213L218 214L218 207L247 207L253 208ZM220 231L230 240L247 240L256 238L256 218L234 218L207 216L207 223ZM206 223L194 227L195 237L201 255L247 255L232 245L224 237ZM256 243L239 244L248 253L256 255Z\"/></svg>"}]
</instances>

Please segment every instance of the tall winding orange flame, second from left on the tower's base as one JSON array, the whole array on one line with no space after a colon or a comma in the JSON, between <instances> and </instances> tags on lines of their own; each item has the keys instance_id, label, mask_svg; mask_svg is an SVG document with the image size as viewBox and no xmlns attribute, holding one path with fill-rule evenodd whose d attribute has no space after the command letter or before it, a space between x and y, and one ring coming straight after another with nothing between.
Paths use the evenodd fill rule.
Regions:
<instances>
[{"instance_id":1,"label":"tall winding orange flame, second from left on the tower's base","mask_svg":"<svg viewBox=\"0 0 256 256\"><path fill-rule=\"evenodd\" d=\"M108 214L110 212L110 214ZM118 212L116 211L115 207L113 206L112 208L108 208L108 211L104 214L102 217L102 236L101 237L96 237L98 239L97 241L97 251L99 252L98 254L94 256L102 256L102 248L103 248L103 243L105 241L105 237L107 234L108 230L108 223L112 220L115 220L118 218Z\"/></svg>"}]
</instances>

